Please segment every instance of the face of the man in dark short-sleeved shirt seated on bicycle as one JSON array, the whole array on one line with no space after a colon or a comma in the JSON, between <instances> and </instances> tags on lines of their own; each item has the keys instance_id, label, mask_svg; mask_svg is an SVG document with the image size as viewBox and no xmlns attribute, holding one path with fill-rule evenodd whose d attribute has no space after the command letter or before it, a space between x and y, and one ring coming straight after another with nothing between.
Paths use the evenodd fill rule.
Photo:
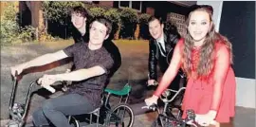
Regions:
<instances>
[{"instance_id":1,"label":"face of the man in dark short-sleeved shirt seated on bicycle","mask_svg":"<svg viewBox=\"0 0 256 127\"><path fill-rule=\"evenodd\" d=\"M107 27L98 21L94 21L90 27L90 43L101 45L108 38Z\"/></svg>"}]
</instances>

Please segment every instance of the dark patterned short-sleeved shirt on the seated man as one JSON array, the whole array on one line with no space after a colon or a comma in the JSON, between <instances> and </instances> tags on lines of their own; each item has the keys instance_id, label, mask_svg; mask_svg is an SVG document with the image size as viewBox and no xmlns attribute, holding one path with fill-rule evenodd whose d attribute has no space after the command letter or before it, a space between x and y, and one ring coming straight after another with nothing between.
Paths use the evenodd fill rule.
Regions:
<instances>
[{"instance_id":1,"label":"dark patterned short-sleeved shirt on the seated man","mask_svg":"<svg viewBox=\"0 0 256 127\"><path fill-rule=\"evenodd\" d=\"M101 76L92 77L81 82L72 82L67 93L77 93L87 98L94 107L101 104L101 93L105 82L107 82L113 59L108 51L102 46L100 49L91 50L88 43L77 43L64 48L68 57L73 57L74 70L90 68L100 65L106 73Z\"/></svg>"}]
</instances>

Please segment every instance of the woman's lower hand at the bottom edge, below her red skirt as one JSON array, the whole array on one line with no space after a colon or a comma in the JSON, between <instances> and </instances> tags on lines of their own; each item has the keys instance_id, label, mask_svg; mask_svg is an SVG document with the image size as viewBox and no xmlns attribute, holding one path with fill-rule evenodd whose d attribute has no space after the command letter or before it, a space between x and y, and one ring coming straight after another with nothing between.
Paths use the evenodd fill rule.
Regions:
<instances>
[{"instance_id":1,"label":"woman's lower hand at the bottom edge, below her red skirt","mask_svg":"<svg viewBox=\"0 0 256 127\"><path fill-rule=\"evenodd\" d=\"M201 126L209 126L210 124L214 124L214 118L216 118L216 115L216 111L210 110L205 115L196 115L195 121Z\"/></svg>"}]
</instances>

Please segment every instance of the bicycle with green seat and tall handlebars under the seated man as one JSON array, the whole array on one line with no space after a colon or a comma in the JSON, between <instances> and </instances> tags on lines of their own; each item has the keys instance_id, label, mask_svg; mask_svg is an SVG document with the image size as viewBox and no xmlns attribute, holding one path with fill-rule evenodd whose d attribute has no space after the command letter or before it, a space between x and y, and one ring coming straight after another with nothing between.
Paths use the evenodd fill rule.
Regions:
<instances>
[{"instance_id":1,"label":"bicycle with green seat and tall handlebars under the seated man","mask_svg":"<svg viewBox=\"0 0 256 127\"><path fill-rule=\"evenodd\" d=\"M15 99L15 94L16 94L16 89L17 89L17 75L15 75L14 77L12 77L12 81L13 81L13 85L12 85L12 90L11 90L11 96L9 99L9 122L6 126L8 127L23 127L25 125L25 118L27 116L27 110L28 110L28 105L29 105L29 101L31 99L31 93L32 90L34 88L35 85L39 85L39 83L37 82L38 80L34 81L34 82L30 82L29 86L28 86L28 90L27 90L27 98L25 100L25 103L19 103L19 102L14 102ZM50 91L51 93L55 92L55 89L51 86L44 86L44 88L46 88L48 91ZM121 124L122 126L125 125L125 121L123 121L123 118L125 117L125 112L123 114L121 114L122 118L119 117L119 111L123 111L122 108L124 109L124 111L128 111L130 120L128 122L128 126L127 127L132 127L133 123L134 123L134 113L133 110L126 104L128 97L129 97L129 93L131 91L131 86L129 84L126 84L122 90L120 91L115 91L115 90L111 90L111 89L105 89L105 92L108 93L107 95L107 100L104 102L104 107L106 107L108 110L107 112L107 117L105 118L105 124L104 126L110 126L110 124L116 124L119 125ZM119 95L119 96L127 96L125 103L120 103L114 107L113 109L108 108L108 99L109 96L113 94L113 95ZM122 99L122 98L121 98ZM120 99L120 100L121 100ZM102 99L103 100L103 99ZM93 114L97 115L97 123L99 123L99 118L100 118L100 108L96 109L95 111L91 112L90 115L92 116ZM80 127L80 122L73 116L68 116L67 117L69 120L69 123L74 125L75 127ZM90 122L92 122L92 118L90 118ZM98 124L97 124L98 126Z\"/></svg>"}]
</instances>

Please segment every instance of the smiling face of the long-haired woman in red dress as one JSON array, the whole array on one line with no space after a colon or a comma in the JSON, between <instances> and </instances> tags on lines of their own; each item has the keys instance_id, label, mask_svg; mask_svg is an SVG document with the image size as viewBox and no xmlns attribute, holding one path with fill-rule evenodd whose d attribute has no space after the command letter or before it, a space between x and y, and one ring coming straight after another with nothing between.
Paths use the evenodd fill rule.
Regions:
<instances>
[{"instance_id":1,"label":"smiling face of the long-haired woman in red dress","mask_svg":"<svg viewBox=\"0 0 256 127\"><path fill-rule=\"evenodd\" d=\"M202 10L192 12L188 29L194 42L203 43L210 27L211 21L208 12Z\"/></svg>"}]
</instances>

